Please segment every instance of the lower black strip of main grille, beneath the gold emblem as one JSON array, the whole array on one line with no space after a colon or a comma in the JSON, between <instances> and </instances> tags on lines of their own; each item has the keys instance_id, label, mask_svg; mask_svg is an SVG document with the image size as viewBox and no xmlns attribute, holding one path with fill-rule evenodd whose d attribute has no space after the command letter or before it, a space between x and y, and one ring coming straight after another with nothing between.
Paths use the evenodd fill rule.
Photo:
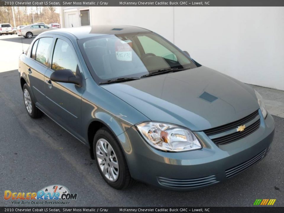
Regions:
<instances>
[{"instance_id":1,"label":"lower black strip of main grille, beneath the gold emblem","mask_svg":"<svg viewBox=\"0 0 284 213\"><path fill-rule=\"evenodd\" d=\"M241 138L244 138L251 133L253 133L255 130L259 128L260 125L260 119L254 122L252 125L249 125L245 130L242 132L235 132L229 135L225 135L219 138L213 138L211 139L216 145L225 145L227 143L231 143L233 141L238 141Z\"/></svg>"}]
</instances>

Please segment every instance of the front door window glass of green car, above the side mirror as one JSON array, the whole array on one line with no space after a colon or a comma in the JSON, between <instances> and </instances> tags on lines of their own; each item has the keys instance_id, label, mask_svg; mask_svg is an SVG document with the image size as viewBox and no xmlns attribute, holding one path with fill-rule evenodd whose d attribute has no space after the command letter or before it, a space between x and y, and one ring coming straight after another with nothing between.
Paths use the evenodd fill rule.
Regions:
<instances>
[{"instance_id":1,"label":"front door window glass of green car, above the side mirror","mask_svg":"<svg viewBox=\"0 0 284 213\"><path fill-rule=\"evenodd\" d=\"M73 54L72 48L66 41L59 38L55 44L51 68L53 70L69 69L74 75L76 73L77 60Z\"/></svg>"}]
</instances>

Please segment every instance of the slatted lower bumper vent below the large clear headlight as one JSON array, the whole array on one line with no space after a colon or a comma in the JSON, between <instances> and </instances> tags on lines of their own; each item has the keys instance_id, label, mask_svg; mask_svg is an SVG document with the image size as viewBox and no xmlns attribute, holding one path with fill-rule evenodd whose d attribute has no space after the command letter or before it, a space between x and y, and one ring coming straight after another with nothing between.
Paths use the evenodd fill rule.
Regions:
<instances>
[{"instance_id":1,"label":"slatted lower bumper vent below the large clear headlight","mask_svg":"<svg viewBox=\"0 0 284 213\"><path fill-rule=\"evenodd\" d=\"M172 178L162 178L158 177L159 184L167 187L175 188L195 188L206 185L211 185L218 183L215 175L210 175L203 178L194 178L194 179L172 179Z\"/></svg>"}]
</instances>

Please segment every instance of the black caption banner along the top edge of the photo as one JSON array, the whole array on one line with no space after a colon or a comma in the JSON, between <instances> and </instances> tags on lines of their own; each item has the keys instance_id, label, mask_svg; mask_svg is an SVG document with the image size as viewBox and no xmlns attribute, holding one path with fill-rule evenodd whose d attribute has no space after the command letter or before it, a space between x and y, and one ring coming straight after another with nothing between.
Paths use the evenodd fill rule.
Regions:
<instances>
[{"instance_id":1,"label":"black caption banner along the top edge of the photo","mask_svg":"<svg viewBox=\"0 0 284 213\"><path fill-rule=\"evenodd\" d=\"M251 7L284 6L284 0L209 0L209 1L174 1L174 0L0 0L1 6L58 6L58 7Z\"/></svg>"}]
</instances>

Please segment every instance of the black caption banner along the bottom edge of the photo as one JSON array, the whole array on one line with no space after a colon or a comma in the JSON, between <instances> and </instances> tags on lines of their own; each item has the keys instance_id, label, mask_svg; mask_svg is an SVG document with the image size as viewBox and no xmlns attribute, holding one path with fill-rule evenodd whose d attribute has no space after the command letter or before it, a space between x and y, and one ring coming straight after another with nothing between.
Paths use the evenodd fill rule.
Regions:
<instances>
[{"instance_id":1,"label":"black caption banner along the bottom edge of the photo","mask_svg":"<svg viewBox=\"0 0 284 213\"><path fill-rule=\"evenodd\" d=\"M284 207L0 207L0 212L284 212Z\"/></svg>"}]
</instances>

